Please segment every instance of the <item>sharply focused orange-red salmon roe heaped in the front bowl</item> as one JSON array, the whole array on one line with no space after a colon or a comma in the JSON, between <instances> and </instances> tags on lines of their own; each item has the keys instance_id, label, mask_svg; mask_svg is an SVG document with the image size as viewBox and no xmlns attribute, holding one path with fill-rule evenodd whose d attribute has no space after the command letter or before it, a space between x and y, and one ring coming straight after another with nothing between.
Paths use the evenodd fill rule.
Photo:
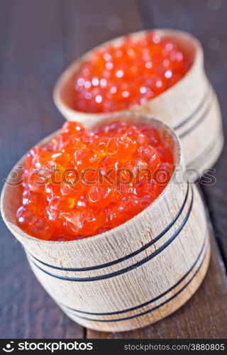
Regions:
<instances>
[{"instance_id":1,"label":"sharply focused orange-red salmon roe heaped in the front bowl","mask_svg":"<svg viewBox=\"0 0 227 355\"><path fill-rule=\"evenodd\" d=\"M115 121L89 131L65 122L48 145L26 155L18 226L51 241L99 234L148 207L173 169L172 152L152 126Z\"/></svg>"}]
</instances>

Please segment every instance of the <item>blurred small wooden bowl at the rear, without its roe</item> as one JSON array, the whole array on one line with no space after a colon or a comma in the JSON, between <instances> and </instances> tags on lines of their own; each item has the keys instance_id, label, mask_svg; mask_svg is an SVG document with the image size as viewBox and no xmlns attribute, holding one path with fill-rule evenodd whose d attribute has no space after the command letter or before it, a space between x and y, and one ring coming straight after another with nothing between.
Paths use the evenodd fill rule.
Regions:
<instances>
[{"instance_id":1,"label":"blurred small wooden bowl at the rear, without its roe","mask_svg":"<svg viewBox=\"0 0 227 355\"><path fill-rule=\"evenodd\" d=\"M161 37L174 40L193 64L189 72L173 87L151 99L147 104L128 109L128 111L150 114L172 126L182 140L187 168L196 169L202 175L204 170L214 165L221 154L223 131L216 94L204 73L204 55L201 44L192 35L183 31L170 29L153 31ZM145 33L146 31L132 33L131 37L141 38ZM118 46L123 38L124 36L110 40L101 46L110 44ZM72 109L73 77L79 67L89 60L91 52L75 60L62 73L53 92L55 104L62 115L67 120L79 121L84 125L107 115L106 113L85 114ZM198 175L194 176L198 177Z\"/></svg>"}]
</instances>

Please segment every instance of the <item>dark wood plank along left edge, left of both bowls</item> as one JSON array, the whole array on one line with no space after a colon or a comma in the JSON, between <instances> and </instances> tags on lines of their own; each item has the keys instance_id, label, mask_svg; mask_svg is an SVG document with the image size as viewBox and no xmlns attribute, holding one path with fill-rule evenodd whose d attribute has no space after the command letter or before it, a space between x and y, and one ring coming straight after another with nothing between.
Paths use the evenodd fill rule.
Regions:
<instances>
[{"instance_id":1,"label":"dark wood plank along left edge, left of both bowls","mask_svg":"<svg viewBox=\"0 0 227 355\"><path fill-rule=\"evenodd\" d=\"M62 118L52 86L63 67L60 0L1 1L1 181ZM82 338L35 279L20 244L0 221L2 338Z\"/></svg>"}]
</instances>

